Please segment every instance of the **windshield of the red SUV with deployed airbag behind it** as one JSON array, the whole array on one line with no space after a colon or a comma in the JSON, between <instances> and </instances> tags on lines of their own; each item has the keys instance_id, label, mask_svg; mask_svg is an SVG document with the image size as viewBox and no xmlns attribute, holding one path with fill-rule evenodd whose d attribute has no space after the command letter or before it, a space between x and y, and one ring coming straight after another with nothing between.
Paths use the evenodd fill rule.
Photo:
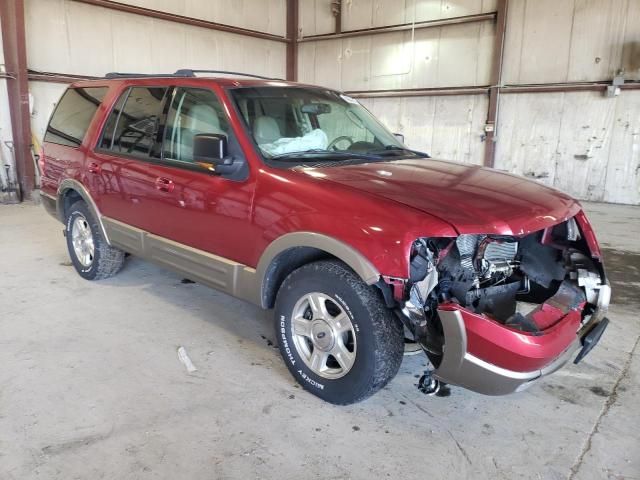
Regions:
<instances>
[{"instance_id":1,"label":"windshield of the red SUV with deployed airbag behind it","mask_svg":"<svg viewBox=\"0 0 640 480\"><path fill-rule=\"evenodd\" d=\"M243 87L230 93L267 159L372 160L417 154L344 94L308 87Z\"/></svg>"}]
</instances>

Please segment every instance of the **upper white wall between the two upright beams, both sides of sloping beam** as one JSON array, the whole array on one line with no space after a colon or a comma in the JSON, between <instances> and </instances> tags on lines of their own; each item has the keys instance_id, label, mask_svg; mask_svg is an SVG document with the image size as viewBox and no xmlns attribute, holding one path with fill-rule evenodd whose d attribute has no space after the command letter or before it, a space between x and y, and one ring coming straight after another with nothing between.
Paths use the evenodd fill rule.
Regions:
<instances>
[{"instance_id":1,"label":"upper white wall between the two upright beams, both sides of sloping beam","mask_svg":"<svg viewBox=\"0 0 640 480\"><path fill-rule=\"evenodd\" d=\"M316 34L318 26L326 28L327 20L319 17L328 16L333 22L330 3L302 1L303 36ZM405 3L411 6L403 8ZM434 8L436 3L440 8ZM413 18L436 20L495 9L494 1L481 0L416 1L415 8L413 4L411 0L346 1L343 30L411 22ZM307 26L311 29L309 32L305 30ZM342 90L487 85L494 33L492 22L482 22L302 43L299 80Z\"/></svg>"}]
</instances>

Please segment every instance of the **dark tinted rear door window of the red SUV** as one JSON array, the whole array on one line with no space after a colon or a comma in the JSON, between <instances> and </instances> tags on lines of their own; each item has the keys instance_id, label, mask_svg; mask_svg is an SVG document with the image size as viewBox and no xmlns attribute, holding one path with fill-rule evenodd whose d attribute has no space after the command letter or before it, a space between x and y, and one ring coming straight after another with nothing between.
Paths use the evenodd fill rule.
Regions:
<instances>
[{"instance_id":1,"label":"dark tinted rear door window of the red SUV","mask_svg":"<svg viewBox=\"0 0 640 480\"><path fill-rule=\"evenodd\" d=\"M100 148L138 157L157 156L156 145L166 88L133 87L116 103L105 124Z\"/></svg>"}]
</instances>

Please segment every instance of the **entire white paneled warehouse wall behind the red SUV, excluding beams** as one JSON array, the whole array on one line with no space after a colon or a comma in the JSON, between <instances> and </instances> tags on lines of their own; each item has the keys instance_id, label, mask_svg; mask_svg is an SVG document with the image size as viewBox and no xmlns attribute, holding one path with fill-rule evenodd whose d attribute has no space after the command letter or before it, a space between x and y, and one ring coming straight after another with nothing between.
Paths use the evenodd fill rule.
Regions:
<instances>
[{"instance_id":1,"label":"entire white paneled warehouse wall behind the red SUV, excluding beams","mask_svg":"<svg viewBox=\"0 0 640 480\"><path fill-rule=\"evenodd\" d=\"M285 0L129 0L132 5L281 36ZM343 0L342 30L493 12L496 0ZM300 0L300 35L332 33L331 0ZM640 0L509 0L503 83L640 79ZM146 18L70 0L26 0L32 70L102 75L206 67L284 77L284 43ZM346 91L487 86L495 22L299 44L303 82ZM0 49L0 55L2 54ZM0 63L2 63L0 58ZM41 138L64 84L30 82ZM0 80L0 162L10 162ZM407 143L433 156L484 161L488 96L363 98ZM495 166L579 198L640 203L640 90L503 93ZM4 181L4 168L0 179Z\"/></svg>"}]
</instances>

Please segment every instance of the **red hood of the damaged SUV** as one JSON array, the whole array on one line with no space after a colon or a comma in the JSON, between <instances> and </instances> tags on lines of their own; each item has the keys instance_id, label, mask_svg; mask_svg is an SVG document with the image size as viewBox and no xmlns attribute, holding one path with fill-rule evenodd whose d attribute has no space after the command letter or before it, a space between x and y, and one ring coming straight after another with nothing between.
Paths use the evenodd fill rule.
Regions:
<instances>
[{"instance_id":1,"label":"red hood of the damaged SUV","mask_svg":"<svg viewBox=\"0 0 640 480\"><path fill-rule=\"evenodd\" d=\"M434 159L302 169L436 216L460 234L524 235L572 217L580 205L533 180Z\"/></svg>"}]
</instances>

